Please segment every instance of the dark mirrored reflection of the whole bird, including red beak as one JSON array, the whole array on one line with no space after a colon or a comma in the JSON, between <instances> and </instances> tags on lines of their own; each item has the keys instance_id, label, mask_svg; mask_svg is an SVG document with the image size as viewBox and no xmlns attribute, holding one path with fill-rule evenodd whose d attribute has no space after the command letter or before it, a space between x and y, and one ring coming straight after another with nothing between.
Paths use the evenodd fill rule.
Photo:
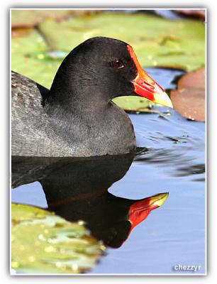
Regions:
<instances>
[{"instance_id":1,"label":"dark mirrored reflection of the whole bird, including red beak","mask_svg":"<svg viewBox=\"0 0 217 284\"><path fill-rule=\"evenodd\" d=\"M152 209L160 207L168 194L143 200L128 200L108 192L121 180L133 155L97 158L12 158L12 186L39 181L48 210L71 222L83 220L96 239L118 248L133 227Z\"/></svg>"}]
</instances>

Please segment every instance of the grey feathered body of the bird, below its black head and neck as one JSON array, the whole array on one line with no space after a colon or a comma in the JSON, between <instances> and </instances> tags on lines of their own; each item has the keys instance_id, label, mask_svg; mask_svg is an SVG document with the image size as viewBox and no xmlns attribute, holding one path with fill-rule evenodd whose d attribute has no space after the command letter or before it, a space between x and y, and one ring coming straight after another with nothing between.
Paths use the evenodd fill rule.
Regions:
<instances>
[{"instance_id":1,"label":"grey feathered body of the bird, below its black head and neck","mask_svg":"<svg viewBox=\"0 0 217 284\"><path fill-rule=\"evenodd\" d=\"M96 105L79 113L52 116L43 107L38 84L12 72L11 85L12 155L85 157L134 150L133 125L125 111L113 102L97 108L97 120ZM128 131L122 131L126 127Z\"/></svg>"}]
</instances>

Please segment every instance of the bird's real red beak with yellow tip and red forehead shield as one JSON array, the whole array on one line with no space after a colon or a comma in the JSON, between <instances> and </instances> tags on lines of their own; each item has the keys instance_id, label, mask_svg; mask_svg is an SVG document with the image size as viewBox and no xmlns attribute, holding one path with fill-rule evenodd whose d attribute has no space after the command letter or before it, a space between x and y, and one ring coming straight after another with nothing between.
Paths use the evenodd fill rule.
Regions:
<instances>
[{"instance_id":1,"label":"bird's real red beak with yellow tip and red forehead shield","mask_svg":"<svg viewBox=\"0 0 217 284\"><path fill-rule=\"evenodd\" d=\"M156 104L162 104L165 107L172 107L172 102L170 101L167 93L162 87L160 87L155 80L153 80L140 66L138 58L136 57L133 48L128 45L128 52L130 57L135 63L135 67L138 70L138 75L132 81L134 85L134 92L145 99L149 99Z\"/></svg>"}]
</instances>

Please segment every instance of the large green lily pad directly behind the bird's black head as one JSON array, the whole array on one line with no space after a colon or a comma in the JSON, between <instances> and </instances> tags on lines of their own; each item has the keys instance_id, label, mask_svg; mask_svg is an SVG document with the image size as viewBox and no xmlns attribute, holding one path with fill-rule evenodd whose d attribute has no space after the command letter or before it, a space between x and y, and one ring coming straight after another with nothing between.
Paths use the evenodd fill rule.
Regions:
<instances>
[{"instance_id":1,"label":"large green lily pad directly behind the bird's black head","mask_svg":"<svg viewBox=\"0 0 217 284\"><path fill-rule=\"evenodd\" d=\"M133 46L140 64L194 70L204 65L205 26L199 21L170 21L145 14L99 13L57 23L40 23L55 50L72 50L82 41L103 35Z\"/></svg>"}]
</instances>

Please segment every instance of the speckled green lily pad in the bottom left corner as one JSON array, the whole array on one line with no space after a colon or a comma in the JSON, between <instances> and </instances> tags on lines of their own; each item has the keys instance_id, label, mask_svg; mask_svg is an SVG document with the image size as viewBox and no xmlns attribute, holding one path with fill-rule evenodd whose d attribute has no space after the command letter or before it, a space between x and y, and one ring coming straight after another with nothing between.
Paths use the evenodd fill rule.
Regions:
<instances>
[{"instance_id":1,"label":"speckled green lily pad in the bottom left corner","mask_svg":"<svg viewBox=\"0 0 217 284\"><path fill-rule=\"evenodd\" d=\"M13 273L82 273L104 249L82 222L23 204L12 204L11 214Z\"/></svg>"}]
</instances>

